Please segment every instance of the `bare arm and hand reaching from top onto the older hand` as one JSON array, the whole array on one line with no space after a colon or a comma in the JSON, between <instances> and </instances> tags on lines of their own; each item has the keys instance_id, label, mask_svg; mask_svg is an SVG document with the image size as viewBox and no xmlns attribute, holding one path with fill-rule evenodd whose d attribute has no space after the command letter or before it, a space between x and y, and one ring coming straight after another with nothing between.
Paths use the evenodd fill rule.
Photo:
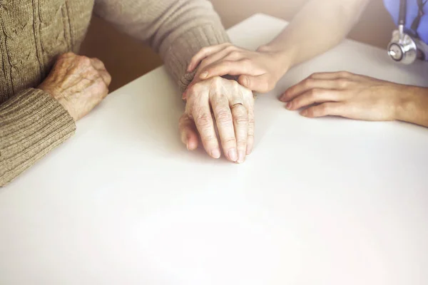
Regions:
<instances>
[{"instance_id":1,"label":"bare arm and hand reaching from top onto the older hand","mask_svg":"<svg viewBox=\"0 0 428 285\"><path fill-rule=\"evenodd\" d=\"M188 71L198 68L198 79L239 76L238 82L265 93L298 63L328 51L342 41L370 0L310 0L270 43L247 51L223 44L203 48Z\"/></svg>"}]
</instances>

